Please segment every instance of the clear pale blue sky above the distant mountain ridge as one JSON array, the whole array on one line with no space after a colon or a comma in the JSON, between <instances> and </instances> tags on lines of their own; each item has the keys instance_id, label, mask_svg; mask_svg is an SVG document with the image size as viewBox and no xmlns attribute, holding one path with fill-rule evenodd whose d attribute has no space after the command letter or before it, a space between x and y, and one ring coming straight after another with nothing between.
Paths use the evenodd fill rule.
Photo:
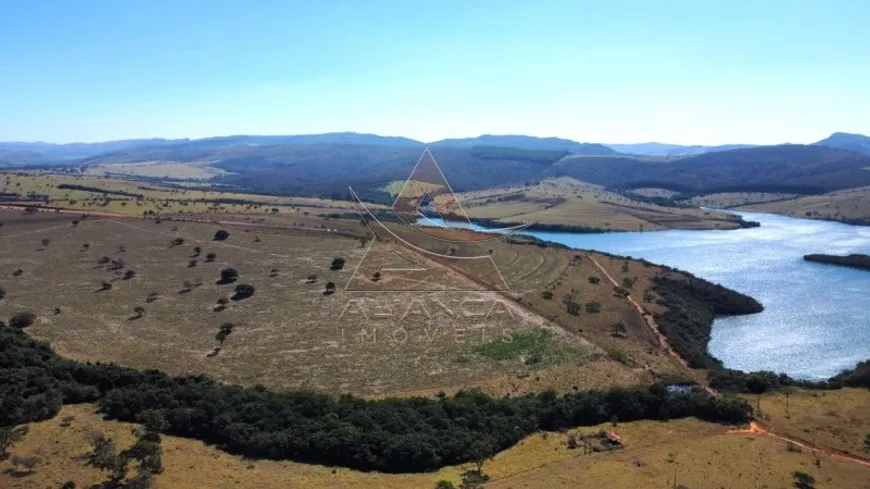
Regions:
<instances>
[{"instance_id":1,"label":"clear pale blue sky above the distant mountain ridge","mask_svg":"<svg viewBox=\"0 0 870 489\"><path fill-rule=\"evenodd\" d=\"M0 0L0 141L870 134L870 2Z\"/></svg>"}]
</instances>

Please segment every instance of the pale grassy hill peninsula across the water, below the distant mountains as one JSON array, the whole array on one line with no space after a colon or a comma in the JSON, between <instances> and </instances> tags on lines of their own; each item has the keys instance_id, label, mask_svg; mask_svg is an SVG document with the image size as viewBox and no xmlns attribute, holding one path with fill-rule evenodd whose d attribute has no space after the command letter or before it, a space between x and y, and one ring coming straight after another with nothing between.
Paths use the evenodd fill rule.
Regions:
<instances>
[{"instance_id":1,"label":"pale grassy hill peninsula across the water, below the distant mountains","mask_svg":"<svg viewBox=\"0 0 870 489\"><path fill-rule=\"evenodd\" d=\"M644 204L571 178L468 192L457 196L472 219L609 229L735 229L729 214Z\"/></svg>"}]
</instances>

